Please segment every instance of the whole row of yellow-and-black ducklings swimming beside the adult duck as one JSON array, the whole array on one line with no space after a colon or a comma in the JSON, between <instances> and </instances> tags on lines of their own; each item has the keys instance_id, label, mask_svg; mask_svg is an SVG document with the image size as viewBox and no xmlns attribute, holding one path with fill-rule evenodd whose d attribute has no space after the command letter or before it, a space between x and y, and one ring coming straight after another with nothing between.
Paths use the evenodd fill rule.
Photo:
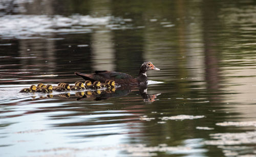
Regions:
<instances>
[{"instance_id":1,"label":"whole row of yellow-and-black ducklings swimming beside the adult duck","mask_svg":"<svg viewBox=\"0 0 256 157\"><path fill-rule=\"evenodd\" d=\"M85 84L85 85L84 85ZM57 86L51 84L45 85L38 83L37 86L31 85L29 88L24 88L20 93L52 93L53 91L65 92L65 91L81 91L83 89L100 89L100 88L115 88L115 81L106 80L105 83L95 81L93 84L91 81L86 82L75 82L75 85L69 85L68 83L58 83Z\"/></svg>"}]
</instances>

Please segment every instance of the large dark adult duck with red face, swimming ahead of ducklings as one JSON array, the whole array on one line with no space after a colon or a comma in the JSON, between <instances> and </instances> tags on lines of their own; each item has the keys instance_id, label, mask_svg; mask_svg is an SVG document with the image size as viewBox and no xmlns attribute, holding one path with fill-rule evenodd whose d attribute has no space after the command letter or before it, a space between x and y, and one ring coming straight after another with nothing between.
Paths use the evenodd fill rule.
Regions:
<instances>
[{"instance_id":1,"label":"large dark adult duck with red face, swimming ahead of ducklings","mask_svg":"<svg viewBox=\"0 0 256 157\"><path fill-rule=\"evenodd\" d=\"M93 74L83 74L79 72L75 72L75 74L79 77L82 77L85 80L90 80L92 82L100 81L105 82L106 80L114 80L115 83L119 85L132 85L132 84L145 84L147 81L146 72L148 70L160 70L156 68L156 66L150 62L144 62L139 71L139 76L134 78L129 74L119 73L114 71L95 71Z\"/></svg>"}]
</instances>

